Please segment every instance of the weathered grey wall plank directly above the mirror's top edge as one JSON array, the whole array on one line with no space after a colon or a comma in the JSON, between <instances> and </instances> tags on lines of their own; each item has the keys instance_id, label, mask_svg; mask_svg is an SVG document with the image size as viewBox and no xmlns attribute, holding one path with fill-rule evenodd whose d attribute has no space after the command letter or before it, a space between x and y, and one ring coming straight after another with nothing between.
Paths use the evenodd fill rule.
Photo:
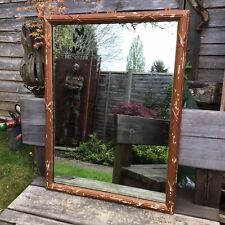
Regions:
<instances>
[{"instance_id":1,"label":"weathered grey wall plank directly above the mirror's top edge","mask_svg":"<svg viewBox=\"0 0 225 225\"><path fill-rule=\"evenodd\" d=\"M176 0L105 0L105 1L65 1L66 13L88 13L88 12L114 12L114 11L138 11L138 10L157 10L165 8L178 8Z\"/></svg>"}]
</instances>

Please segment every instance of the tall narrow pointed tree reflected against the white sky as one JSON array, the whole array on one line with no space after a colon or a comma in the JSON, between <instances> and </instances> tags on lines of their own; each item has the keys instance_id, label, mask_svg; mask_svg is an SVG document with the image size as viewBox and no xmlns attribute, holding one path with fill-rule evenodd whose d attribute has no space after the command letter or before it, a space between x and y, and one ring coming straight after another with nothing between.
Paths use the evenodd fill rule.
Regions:
<instances>
[{"instance_id":1,"label":"tall narrow pointed tree reflected against the white sky","mask_svg":"<svg viewBox=\"0 0 225 225\"><path fill-rule=\"evenodd\" d=\"M135 37L131 43L130 51L127 56L127 71L144 72L145 58L143 55L143 44L139 37Z\"/></svg>"}]
</instances>

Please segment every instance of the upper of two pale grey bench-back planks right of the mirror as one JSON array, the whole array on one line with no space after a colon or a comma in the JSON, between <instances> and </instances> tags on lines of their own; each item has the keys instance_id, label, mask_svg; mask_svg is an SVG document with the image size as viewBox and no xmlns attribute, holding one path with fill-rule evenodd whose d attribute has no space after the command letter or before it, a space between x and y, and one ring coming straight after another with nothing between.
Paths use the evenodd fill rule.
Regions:
<instances>
[{"instance_id":1,"label":"upper of two pale grey bench-back planks right of the mirror","mask_svg":"<svg viewBox=\"0 0 225 225\"><path fill-rule=\"evenodd\" d=\"M225 113L183 109L181 136L225 139Z\"/></svg>"}]
</instances>

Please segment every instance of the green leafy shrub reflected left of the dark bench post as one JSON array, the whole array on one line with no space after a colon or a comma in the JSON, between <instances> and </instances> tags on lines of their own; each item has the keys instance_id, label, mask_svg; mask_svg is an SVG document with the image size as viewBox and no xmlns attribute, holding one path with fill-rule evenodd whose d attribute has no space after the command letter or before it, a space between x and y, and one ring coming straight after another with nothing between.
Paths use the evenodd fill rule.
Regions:
<instances>
[{"instance_id":1,"label":"green leafy shrub reflected left of the dark bench post","mask_svg":"<svg viewBox=\"0 0 225 225\"><path fill-rule=\"evenodd\" d=\"M104 143L96 134L92 134L87 142L81 143L79 147L66 152L66 156L77 160L109 166L113 165L114 148L111 143Z\"/></svg>"}]
</instances>

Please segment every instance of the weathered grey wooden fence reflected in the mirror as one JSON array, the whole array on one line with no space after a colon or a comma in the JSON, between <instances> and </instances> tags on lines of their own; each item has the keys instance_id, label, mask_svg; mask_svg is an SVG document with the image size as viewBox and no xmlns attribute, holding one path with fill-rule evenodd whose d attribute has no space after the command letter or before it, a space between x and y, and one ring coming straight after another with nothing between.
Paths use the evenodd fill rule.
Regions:
<instances>
[{"instance_id":1,"label":"weathered grey wooden fence reflected in the mirror","mask_svg":"<svg viewBox=\"0 0 225 225\"><path fill-rule=\"evenodd\" d=\"M171 74L101 72L95 104L94 131L101 137L113 132L112 109L121 102L143 103L150 91L158 101L165 97L165 88L172 83ZM130 88L130 91L128 90ZM128 96L130 93L130 96Z\"/></svg>"}]
</instances>

